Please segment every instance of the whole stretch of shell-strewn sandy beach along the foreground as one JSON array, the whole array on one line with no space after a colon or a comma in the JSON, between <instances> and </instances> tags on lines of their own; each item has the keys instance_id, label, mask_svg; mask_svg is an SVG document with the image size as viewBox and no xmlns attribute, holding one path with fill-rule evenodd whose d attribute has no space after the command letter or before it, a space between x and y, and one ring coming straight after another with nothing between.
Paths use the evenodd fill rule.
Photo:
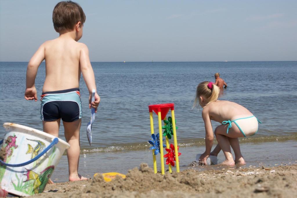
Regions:
<instances>
[{"instance_id":1,"label":"whole stretch of shell-strewn sandy beach along the foreground","mask_svg":"<svg viewBox=\"0 0 297 198\"><path fill-rule=\"evenodd\" d=\"M297 165L278 167L222 167L154 174L147 164L129 170L125 179L93 179L48 184L32 197L294 197Z\"/></svg>"}]
</instances>

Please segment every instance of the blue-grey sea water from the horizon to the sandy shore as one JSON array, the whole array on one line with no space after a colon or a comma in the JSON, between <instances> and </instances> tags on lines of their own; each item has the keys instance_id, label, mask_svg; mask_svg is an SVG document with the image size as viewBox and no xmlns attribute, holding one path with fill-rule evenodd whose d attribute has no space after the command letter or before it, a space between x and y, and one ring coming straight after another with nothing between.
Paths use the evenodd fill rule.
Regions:
<instances>
[{"instance_id":1,"label":"blue-grey sea water from the horizon to the sandy shore","mask_svg":"<svg viewBox=\"0 0 297 198\"><path fill-rule=\"evenodd\" d=\"M13 122L42 130L41 102L24 99L27 64L0 62L0 123ZM262 122L255 136L240 139L247 165L260 162L275 165L280 164L279 159L284 163L296 163L296 61L93 62L92 66L101 102L93 125L92 146L89 146L86 137L86 125L90 120L89 95L81 77L83 118L79 170L85 175L127 173L140 162L152 164L147 143L150 140L148 105L161 103L175 105L178 145L182 153L180 165L189 168L196 154L204 152L202 109L192 109L196 87L205 80L214 82L216 72L228 83L219 99L243 105ZM43 62L35 80L39 99L44 79ZM157 121L154 114L155 133L158 132ZM212 122L212 125L215 129L219 123ZM4 128L0 133L4 137ZM65 140L63 126L59 137ZM271 157L276 152L282 157ZM268 158L258 161L257 156ZM220 159L223 161L223 156ZM53 177L66 181L67 169L67 157L63 156Z\"/></svg>"}]
</instances>

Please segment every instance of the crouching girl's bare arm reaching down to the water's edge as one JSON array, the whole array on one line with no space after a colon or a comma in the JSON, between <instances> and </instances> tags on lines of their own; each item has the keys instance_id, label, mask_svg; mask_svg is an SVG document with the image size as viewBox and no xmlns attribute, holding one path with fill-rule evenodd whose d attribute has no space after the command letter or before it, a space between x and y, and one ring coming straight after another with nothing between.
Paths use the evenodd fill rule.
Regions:
<instances>
[{"instance_id":1,"label":"crouching girl's bare arm reaching down to the water's edge","mask_svg":"<svg viewBox=\"0 0 297 198\"><path fill-rule=\"evenodd\" d=\"M204 109L202 111L202 118L205 126L205 152L200 156L200 164L206 164L206 159L209 157L211 147L214 142L214 132L212 130L211 121L208 112Z\"/></svg>"}]
</instances>

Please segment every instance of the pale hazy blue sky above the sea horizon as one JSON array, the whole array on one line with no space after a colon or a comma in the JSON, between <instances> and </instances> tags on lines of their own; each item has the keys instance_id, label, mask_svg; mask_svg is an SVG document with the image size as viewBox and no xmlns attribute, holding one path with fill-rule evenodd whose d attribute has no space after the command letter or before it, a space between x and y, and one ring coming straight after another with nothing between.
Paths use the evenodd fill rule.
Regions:
<instances>
[{"instance_id":1,"label":"pale hazy blue sky above the sea horizon","mask_svg":"<svg viewBox=\"0 0 297 198\"><path fill-rule=\"evenodd\" d=\"M29 61L59 36L59 1L0 0L0 61ZM296 61L297 1L91 1L91 61Z\"/></svg>"}]
</instances>

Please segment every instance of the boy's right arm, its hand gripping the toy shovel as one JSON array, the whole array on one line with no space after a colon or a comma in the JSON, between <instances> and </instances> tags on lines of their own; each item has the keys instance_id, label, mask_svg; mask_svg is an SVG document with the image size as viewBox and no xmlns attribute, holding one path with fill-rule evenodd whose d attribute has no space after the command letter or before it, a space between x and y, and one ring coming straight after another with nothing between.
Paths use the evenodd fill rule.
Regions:
<instances>
[{"instance_id":1,"label":"boy's right arm, its hand gripping the toy shovel","mask_svg":"<svg viewBox=\"0 0 297 198\"><path fill-rule=\"evenodd\" d=\"M79 63L81 73L83 74L83 79L85 80L87 88L89 90L89 108L91 108L92 106L93 108L95 108L95 112L97 113L97 107L100 102L100 97L97 94L95 75L89 58L89 49L85 44L81 43L81 45L82 48L80 49ZM96 90L95 101L91 102L93 89Z\"/></svg>"}]
</instances>

